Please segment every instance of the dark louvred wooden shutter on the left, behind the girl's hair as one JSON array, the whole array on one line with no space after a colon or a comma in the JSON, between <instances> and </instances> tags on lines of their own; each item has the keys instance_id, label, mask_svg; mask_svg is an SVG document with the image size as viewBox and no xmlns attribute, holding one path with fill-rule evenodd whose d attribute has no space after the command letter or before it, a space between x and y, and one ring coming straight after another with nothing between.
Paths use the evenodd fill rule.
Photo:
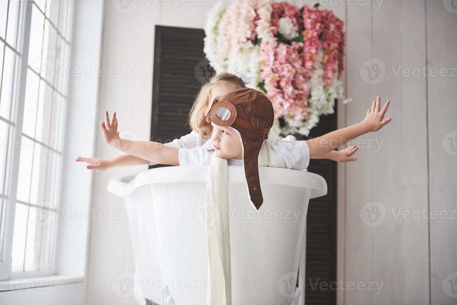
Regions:
<instances>
[{"instance_id":1,"label":"dark louvred wooden shutter on the left, behind the girl's hair","mask_svg":"<svg viewBox=\"0 0 457 305\"><path fill-rule=\"evenodd\" d=\"M203 53L202 29L155 27L151 141L189 134L189 111L204 78L213 75ZM164 165L149 166L159 167Z\"/></svg>"}]
</instances>

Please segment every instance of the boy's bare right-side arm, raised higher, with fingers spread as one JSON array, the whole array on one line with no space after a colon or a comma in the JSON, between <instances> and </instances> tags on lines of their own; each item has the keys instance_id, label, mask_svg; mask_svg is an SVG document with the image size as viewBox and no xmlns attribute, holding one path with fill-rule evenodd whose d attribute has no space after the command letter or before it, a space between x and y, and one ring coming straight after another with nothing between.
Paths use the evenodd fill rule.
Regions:
<instances>
[{"instance_id":1,"label":"boy's bare right-side arm, raised higher, with fingers spread","mask_svg":"<svg viewBox=\"0 0 457 305\"><path fill-rule=\"evenodd\" d=\"M389 107L389 103L390 100L385 103L383 109L380 109L381 98L377 96L376 101L373 102L371 109L368 109L367 116L362 122L337 129L314 139L306 140L309 147L309 155L316 156L329 153L351 139L355 139L362 134L381 129L384 125L392 121L391 118L383 120L384 114Z\"/></svg>"}]
</instances>

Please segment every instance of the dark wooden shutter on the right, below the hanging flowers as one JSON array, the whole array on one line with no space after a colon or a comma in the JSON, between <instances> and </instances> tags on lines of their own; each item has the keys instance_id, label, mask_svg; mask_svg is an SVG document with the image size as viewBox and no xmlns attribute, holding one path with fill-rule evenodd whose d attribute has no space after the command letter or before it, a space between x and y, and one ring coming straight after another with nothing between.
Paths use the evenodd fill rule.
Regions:
<instances>
[{"instance_id":1,"label":"dark wooden shutter on the right, below the hanging flowers","mask_svg":"<svg viewBox=\"0 0 457 305\"><path fill-rule=\"evenodd\" d=\"M308 137L295 134L298 140L319 137L337 129L337 102L335 113L320 117L318 126L311 129ZM309 201L306 228L306 277L305 304L334 305L336 290L329 289L336 281L336 162L327 159L311 159L308 171L324 177L327 195ZM313 286L316 289L313 290ZM319 289L321 282L326 283ZM331 285L330 285L331 284Z\"/></svg>"}]
</instances>

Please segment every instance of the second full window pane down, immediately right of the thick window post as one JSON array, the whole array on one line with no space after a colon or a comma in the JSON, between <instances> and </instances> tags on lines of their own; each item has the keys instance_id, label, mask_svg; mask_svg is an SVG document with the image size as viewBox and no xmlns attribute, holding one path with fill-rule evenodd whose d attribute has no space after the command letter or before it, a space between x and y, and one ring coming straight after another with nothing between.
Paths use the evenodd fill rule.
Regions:
<instances>
[{"instance_id":1,"label":"second full window pane down, immediately right of the thick window post","mask_svg":"<svg viewBox=\"0 0 457 305\"><path fill-rule=\"evenodd\" d=\"M33 138L35 136L35 123L37 122L38 84L40 78L30 68L27 68L26 96L24 100L24 116L22 132ZM44 87L44 86L43 86Z\"/></svg>"}]
</instances>

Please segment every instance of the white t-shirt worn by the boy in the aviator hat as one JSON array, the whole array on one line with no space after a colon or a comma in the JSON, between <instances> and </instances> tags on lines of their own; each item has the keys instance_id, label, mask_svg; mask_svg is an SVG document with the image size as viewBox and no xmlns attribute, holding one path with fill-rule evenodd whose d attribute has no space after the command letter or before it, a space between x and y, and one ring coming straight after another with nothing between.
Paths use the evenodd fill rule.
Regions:
<instances>
[{"instance_id":1,"label":"white t-shirt worn by the boy in the aviator hat","mask_svg":"<svg viewBox=\"0 0 457 305\"><path fill-rule=\"evenodd\" d=\"M287 141L279 137L267 139L271 148L282 156L286 168L304 170L309 165L309 147L306 141ZM178 159L180 166L210 165L214 150L205 147L180 148ZM228 165L243 165L242 159L227 159Z\"/></svg>"}]
</instances>

